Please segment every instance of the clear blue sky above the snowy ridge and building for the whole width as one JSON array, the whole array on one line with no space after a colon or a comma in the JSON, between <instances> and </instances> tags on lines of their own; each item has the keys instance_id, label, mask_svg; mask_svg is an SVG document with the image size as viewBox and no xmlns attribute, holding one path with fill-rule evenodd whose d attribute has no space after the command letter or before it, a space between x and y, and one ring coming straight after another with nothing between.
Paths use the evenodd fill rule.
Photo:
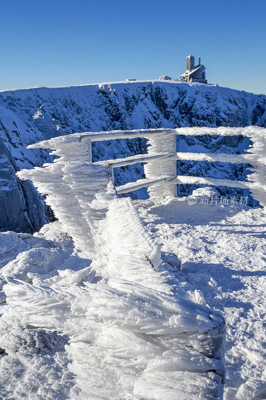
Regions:
<instances>
[{"instance_id":1,"label":"clear blue sky above the snowy ridge and building for the whole width","mask_svg":"<svg viewBox=\"0 0 266 400\"><path fill-rule=\"evenodd\" d=\"M0 0L0 89L178 77L266 93L266 0Z\"/></svg>"}]
</instances>

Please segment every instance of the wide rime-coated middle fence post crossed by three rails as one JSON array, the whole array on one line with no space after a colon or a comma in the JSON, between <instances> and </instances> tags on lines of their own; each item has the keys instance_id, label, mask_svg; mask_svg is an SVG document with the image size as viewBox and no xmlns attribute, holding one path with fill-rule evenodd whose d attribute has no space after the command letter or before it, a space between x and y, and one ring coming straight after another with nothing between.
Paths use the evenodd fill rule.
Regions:
<instances>
[{"instance_id":1,"label":"wide rime-coated middle fence post crossed by three rails","mask_svg":"<svg viewBox=\"0 0 266 400\"><path fill-rule=\"evenodd\" d=\"M176 132L159 132L148 138L148 153L172 153L176 155ZM176 159L174 157L149 160L144 165L146 178L158 178L163 176L176 176ZM176 197L176 183L158 183L148 188L150 197Z\"/></svg>"}]
</instances>

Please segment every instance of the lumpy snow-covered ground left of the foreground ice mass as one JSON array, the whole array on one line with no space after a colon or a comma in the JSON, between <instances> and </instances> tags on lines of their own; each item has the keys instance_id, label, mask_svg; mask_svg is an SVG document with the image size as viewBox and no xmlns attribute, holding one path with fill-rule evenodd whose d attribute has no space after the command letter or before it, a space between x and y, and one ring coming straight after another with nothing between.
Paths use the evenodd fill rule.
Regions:
<instances>
[{"instance_id":1,"label":"lumpy snow-covered ground left of the foreground ice mass","mask_svg":"<svg viewBox=\"0 0 266 400\"><path fill-rule=\"evenodd\" d=\"M1 288L14 278L32 285L73 285L88 276L91 268L90 261L72 253L73 241L59 222L45 225L34 236L1 233ZM1 353L4 350L0 356L0 398L66 400L75 385L64 348L68 337L26 325L22 315L5 304L4 290L0 293Z\"/></svg>"}]
</instances>

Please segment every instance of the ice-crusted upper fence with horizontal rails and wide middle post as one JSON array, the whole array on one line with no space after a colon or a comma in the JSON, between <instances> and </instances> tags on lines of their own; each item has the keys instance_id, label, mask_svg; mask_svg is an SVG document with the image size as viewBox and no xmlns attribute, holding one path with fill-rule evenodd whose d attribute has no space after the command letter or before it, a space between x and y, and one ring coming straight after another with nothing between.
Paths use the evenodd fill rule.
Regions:
<instances>
[{"instance_id":1,"label":"ice-crusted upper fence with horizontal rails and wide middle post","mask_svg":"<svg viewBox=\"0 0 266 400\"><path fill-rule=\"evenodd\" d=\"M176 151L176 134L179 135L243 135L251 139L251 146L245 154L226 153L194 153ZM81 149L81 143L86 143L87 160L91 161L91 142L111 140L119 138L144 137L148 139L148 153L139 154L126 158L98 161L95 164L106 165L110 168L144 162L145 179L136 182L129 182L116 187L118 194L137 190L141 187L148 187L150 196L175 196L177 184L204 184L217 186L231 186L250 189L252 195L262 205L266 206L266 129L258 126L247 127L182 127L177 129L137 129L126 131L109 132L83 132L74 133L60 138L53 138L29 146L56 147L60 142L61 146L75 143L76 150ZM84 149L84 146L82 146ZM84 150L83 150L84 151ZM60 152L56 152L60 155ZM80 156L82 152L80 150ZM178 175L176 173L176 160L198 160L198 161L221 161L233 163L250 163L253 173L250 173L246 181L216 179L210 177Z\"/></svg>"}]
</instances>

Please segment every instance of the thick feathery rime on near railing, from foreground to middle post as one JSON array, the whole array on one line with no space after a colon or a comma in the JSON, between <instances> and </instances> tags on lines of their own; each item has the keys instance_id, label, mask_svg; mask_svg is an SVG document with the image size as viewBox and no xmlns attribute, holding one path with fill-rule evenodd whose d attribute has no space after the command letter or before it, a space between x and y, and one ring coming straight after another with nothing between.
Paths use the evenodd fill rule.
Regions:
<instances>
[{"instance_id":1,"label":"thick feathery rime on near railing, from foreground to middle post","mask_svg":"<svg viewBox=\"0 0 266 400\"><path fill-rule=\"evenodd\" d=\"M168 159L171 129L74 134L30 146L52 148L59 158L18 176L47 195L76 251L92 262L67 287L7 284L7 304L25 323L69 337L69 369L80 389L73 399L222 400L224 318L192 302L161 260L132 199L117 197L114 165L91 162L91 140L123 135L144 135L154 150L141 155L149 158L149 182L156 174L164 182L152 184L151 194L175 195L176 183L167 181L176 162Z\"/></svg>"}]
</instances>

